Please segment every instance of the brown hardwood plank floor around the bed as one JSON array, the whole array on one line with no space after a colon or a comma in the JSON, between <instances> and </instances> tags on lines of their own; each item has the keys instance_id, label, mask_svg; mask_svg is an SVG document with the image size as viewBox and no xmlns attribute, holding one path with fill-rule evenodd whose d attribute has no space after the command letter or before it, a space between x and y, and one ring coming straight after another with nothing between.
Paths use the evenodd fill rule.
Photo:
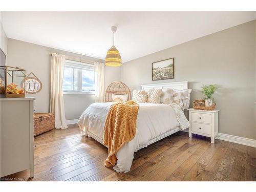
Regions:
<instances>
[{"instance_id":1,"label":"brown hardwood plank floor around the bed","mask_svg":"<svg viewBox=\"0 0 256 192\"><path fill-rule=\"evenodd\" d=\"M134 155L129 173L104 167L108 149L81 136L77 125L35 137L35 177L25 181L256 181L256 148L180 132Z\"/></svg>"}]
</instances>

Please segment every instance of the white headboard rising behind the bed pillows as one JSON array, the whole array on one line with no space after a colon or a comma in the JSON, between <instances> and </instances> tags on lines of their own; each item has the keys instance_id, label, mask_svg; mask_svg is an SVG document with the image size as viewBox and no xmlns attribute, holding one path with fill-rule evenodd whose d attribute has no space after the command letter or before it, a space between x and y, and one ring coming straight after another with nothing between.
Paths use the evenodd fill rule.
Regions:
<instances>
[{"instance_id":1,"label":"white headboard rising behind the bed pillows","mask_svg":"<svg viewBox=\"0 0 256 192\"><path fill-rule=\"evenodd\" d=\"M177 90L183 90L187 89L187 81L180 81L180 82L165 82L165 83L155 83L155 84L142 84L141 88L143 90L149 90L149 89L177 89Z\"/></svg>"}]
</instances>

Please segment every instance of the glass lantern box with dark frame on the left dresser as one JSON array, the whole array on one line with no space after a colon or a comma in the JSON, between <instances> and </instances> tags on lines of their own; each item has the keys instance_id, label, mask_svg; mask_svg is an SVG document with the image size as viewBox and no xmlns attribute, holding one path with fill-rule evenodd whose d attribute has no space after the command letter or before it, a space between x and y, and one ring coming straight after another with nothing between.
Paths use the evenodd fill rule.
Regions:
<instances>
[{"instance_id":1,"label":"glass lantern box with dark frame on the left dresser","mask_svg":"<svg viewBox=\"0 0 256 192\"><path fill-rule=\"evenodd\" d=\"M4 98L25 97L22 82L25 82L25 70L18 67L0 66L0 92Z\"/></svg>"}]
</instances>

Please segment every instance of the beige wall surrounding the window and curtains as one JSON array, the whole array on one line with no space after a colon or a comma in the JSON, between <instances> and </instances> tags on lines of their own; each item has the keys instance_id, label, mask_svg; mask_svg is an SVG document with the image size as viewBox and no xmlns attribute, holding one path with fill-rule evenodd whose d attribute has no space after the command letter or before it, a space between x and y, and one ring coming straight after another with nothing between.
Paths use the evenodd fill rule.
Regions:
<instances>
[{"instance_id":1,"label":"beige wall surrounding the window and curtains","mask_svg":"<svg viewBox=\"0 0 256 192\"><path fill-rule=\"evenodd\" d=\"M8 38L8 65L23 68L26 70L26 74L33 72L42 82L42 89L39 93L26 94L26 96L36 98L36 112L49 112L51 66L49 53L51 52L65 54L74 58L103 62L101 59ZM111 81L120 80L120 72L120 68L112 70L106 67L105 85L108 85ZM64 101L66 119L78 119L82 112L94 102L94 95L64 95Z\"/></svg>"}]
</instances>

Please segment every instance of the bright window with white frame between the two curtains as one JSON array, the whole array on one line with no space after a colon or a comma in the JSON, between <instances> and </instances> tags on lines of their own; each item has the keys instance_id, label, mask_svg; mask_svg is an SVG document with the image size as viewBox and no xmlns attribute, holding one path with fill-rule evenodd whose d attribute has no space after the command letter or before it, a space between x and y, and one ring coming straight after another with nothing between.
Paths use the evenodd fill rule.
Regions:
<instances>
[{"instance_id":1,"label":"bright window with white frame between the two curtains","mask_svg":"<svg viewBox=\"0 0 256 192\"><path fill-rule=\"evenodd\" d=\"M64 94L94 94L94 66L66 60L63 69Z\"/></svg>"}]
</instances>

